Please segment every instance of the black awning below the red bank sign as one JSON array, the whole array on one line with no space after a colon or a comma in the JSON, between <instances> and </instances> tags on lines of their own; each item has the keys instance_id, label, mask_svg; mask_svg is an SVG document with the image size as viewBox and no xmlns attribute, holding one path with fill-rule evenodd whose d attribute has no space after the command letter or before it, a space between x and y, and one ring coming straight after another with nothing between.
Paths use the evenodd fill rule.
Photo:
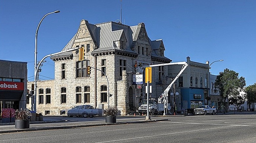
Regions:
<instances>
[{"instance_id":1,"label":"black awning below the red bank sign","mask_svg":"<svg viewBox=\"0 0 256 143\"><path fill-rule=\"evenodd\" d=\"M22 94L20 90L0 90L0 100L20 100Z\"/></svg>"}]
</instances>

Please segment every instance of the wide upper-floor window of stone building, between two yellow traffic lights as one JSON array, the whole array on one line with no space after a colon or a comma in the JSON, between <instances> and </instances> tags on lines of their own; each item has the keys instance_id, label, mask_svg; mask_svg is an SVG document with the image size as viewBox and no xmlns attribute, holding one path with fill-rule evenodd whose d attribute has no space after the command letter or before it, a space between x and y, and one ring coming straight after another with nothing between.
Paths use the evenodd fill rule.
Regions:
<instances>
[{"instance_id":1,"label":"wide upper-floor window of stone building, between two yellow traffic lights","mask_svg":"<svg viewBox=\"0 0 256 143\"><path fill-rule=\"evenodd\" d=\"M87 66L90 66L89 60L76 62L76 77L90 77L87 73Z\"/></svg>"}]
</instances>

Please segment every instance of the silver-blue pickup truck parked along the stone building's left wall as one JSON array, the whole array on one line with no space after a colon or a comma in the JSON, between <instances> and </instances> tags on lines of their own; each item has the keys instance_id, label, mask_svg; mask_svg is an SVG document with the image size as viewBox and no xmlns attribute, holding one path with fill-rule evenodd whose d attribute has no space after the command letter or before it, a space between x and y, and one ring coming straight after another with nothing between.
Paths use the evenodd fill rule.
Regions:
<instances>
[{"instance_id":1,"label":"silver-blue pickup truck parked along the stone building's left wall","mask_svg":"<svg viewBox=\"0 0 256 143\"><path fill-rule=\"evenodd\" d=\"M90 105L80 105L80 106L75 106L74 108L68 110L68 117L94 117L95 115L99 114L98 109L94 109L93 106Z\"/></svg>"}]
</instances>

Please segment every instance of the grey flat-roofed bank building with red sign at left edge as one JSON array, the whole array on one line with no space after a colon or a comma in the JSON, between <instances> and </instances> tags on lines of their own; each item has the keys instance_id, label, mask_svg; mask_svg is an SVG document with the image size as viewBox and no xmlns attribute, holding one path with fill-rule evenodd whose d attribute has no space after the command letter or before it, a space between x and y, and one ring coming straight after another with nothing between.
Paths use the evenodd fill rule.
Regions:
<instances>
[{"instance_id":1,"label":"grey flat-roofed bank building with red sign at left edge","mask_svg":"<svg viewBox=\"0 0 256 143\"><path fill-rule=\"evenodd\" d=\"M27 63L0 60L0 67L0 113L3 108L26 108Z\"/></svg>"}]
</instances>

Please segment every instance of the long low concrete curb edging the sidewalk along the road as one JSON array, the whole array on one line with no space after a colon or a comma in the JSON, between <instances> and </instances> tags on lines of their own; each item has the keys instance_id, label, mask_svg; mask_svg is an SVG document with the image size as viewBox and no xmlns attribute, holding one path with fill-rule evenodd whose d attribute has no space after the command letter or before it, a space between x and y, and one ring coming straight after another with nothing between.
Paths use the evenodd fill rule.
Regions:
<instances>
[{"instance_id":1,"label":"long low concrete curb edging the sidewalk along the road","mask_svg":"<svg viewBox=\"0 0 256 143\"><path fill-rule=\"evenodd\" d=\"M93 127L93 126L108 126L108 125L159 122L159 121L167 121L167 120L168 119L155 119L155 120L142 120L142 121L117 122L117 123L99 123L99 124L93 124L93 125L71 125L71 126L57 126L57 127L38 127L38 128L29 128L29 129L14 129L14 130L9 130L9 131L0 131L0 134L16 133L16 132L29 132L29 131L42 131L42 130L55 130L55 129L82 128L82 127Z\"/></svg>"}]
</instances>

